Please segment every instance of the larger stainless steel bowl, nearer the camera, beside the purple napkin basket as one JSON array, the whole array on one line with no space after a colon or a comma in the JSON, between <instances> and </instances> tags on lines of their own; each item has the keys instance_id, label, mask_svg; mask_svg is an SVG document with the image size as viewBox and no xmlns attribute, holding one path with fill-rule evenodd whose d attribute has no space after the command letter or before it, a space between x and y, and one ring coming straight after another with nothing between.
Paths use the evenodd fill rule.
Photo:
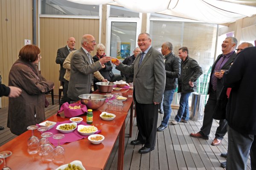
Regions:
<instances>
[{"instance_id":1,"label":"larger stainless steel bowl, nearer the camera, beside the purple napkin basket","mask_svg":"<svg viewBox=\"0 0 256 170\"><path fill-rule=\"evenodd\" d=\"M105 103L107 98L105 95L97 94L84 94L78 97L80 98L81 104L85 104L87 109L98 109Z\"/></svg>"}]
</instances>

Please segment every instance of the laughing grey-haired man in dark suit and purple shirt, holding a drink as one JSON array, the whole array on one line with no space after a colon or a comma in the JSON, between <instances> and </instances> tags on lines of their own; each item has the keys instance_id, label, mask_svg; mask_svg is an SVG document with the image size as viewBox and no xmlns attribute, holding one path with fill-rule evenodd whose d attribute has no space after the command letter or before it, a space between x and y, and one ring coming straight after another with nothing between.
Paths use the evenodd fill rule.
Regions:
<instances>
[{"instance_id":1,"label":"laughing grey-haired man in dark suit and purple shirt, holding a drink","mask_svg":"<svg viewBox=\"0 0 256 170\"><path fill-rule=\"evenodd\" d=\"M212 127L212 115L214 114L217 100L224 86L221 84L222 75L220 70L228 70L236 58L237 40L235 37L227 37L221 44L223 54L218 55L217 60L212 65L208 93L209 98L204 109L204 121L201 130L198 133L190 133L190 136L195 138L209 139L210 130ZM227 91L227 90L226 90ZM222 91L223 92L223 91ZM226 93L226 92L225 92ZM221 140L227 133L227 120L221 119L219 127L216 130L215 138L212 141L213 146L221 144Z\"/></svg>"}]
</instances>

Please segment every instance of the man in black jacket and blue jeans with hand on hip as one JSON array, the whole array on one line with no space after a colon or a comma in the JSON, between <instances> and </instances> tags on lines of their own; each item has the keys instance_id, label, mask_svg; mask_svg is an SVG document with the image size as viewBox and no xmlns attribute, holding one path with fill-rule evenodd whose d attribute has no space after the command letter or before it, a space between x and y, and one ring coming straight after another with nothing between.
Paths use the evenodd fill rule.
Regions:
<instances>
[{"instance_id":1,"label":"man in black jacket and blue jeans with hand on hip","mask_svg":"<svg viewBox=\"0 0 256 170\"><path fill-rule=\"evenodd\" d=\"M197 61L189 57L189 49L181 47L179 49L179 56L181 59L180 77L178 78L178 92L180 95L180 107L172 124L181 122L188 122L189 120L189 95L196 91L197 79L203 74L202 68Z\"/></svg>"}]
</instances>

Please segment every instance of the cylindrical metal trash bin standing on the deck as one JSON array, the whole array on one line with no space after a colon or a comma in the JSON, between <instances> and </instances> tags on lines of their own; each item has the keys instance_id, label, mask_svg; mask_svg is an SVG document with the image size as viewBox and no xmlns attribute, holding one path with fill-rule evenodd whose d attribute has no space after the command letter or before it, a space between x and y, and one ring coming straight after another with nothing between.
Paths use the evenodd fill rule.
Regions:
<instances>
[{"instance_id":1,"label":"cylindrical metal trash bin standing on the deck","mask_svg":"<svg viewBox=\"0 0 256 170\"><path fill-rule=\"evenodd\" d=\"M189 118L193 121L201 121L204 118L204 99L203 93L192 93L192 104Z\"/></svg>"}]
</instances>

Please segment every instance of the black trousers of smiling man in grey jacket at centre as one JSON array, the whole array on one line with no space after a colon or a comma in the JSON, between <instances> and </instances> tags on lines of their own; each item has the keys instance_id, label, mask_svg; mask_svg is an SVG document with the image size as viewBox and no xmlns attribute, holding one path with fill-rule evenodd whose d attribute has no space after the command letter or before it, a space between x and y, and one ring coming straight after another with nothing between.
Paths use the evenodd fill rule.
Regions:
<instances>
[{"instance_id":1,"label":"black trousers of smiling man in grey jacket at centre","mask_svg":"<svg viewBox=\"0 0 256 170\"><path fill-rule=\"evenodd\" d=\"M140 104L136 98L134 99L139 130L137 139L146 141L145 147L154 148L157 135L158 104Z\"/></svg>"}]
</instances>

